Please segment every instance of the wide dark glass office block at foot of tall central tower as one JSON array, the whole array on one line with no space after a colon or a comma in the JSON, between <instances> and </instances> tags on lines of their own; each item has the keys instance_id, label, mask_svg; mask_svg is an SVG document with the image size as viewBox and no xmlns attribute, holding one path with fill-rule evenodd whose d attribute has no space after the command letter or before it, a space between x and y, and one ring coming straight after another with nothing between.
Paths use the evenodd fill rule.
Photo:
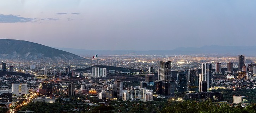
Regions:
<instances>
[{"instance_id":1,"label":"wide dark glass office block at foot of tall central tower","mask_svg":"<svg viewBox=\"0 0 256 113\"><path fill-rule=\"evenodd\" d=\"M174 97L175 81L157 81L156 93L165 98Z\"/></svg>"}]
</instances>

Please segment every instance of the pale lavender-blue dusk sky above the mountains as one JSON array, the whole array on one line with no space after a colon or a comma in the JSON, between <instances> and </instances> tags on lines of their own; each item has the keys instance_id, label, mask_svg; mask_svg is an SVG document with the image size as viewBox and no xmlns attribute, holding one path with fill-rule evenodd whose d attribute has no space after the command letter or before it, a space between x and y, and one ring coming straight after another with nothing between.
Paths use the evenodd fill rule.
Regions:
<instances>
[{"instance_id":1,"label":"pale lavender-blue dusk sky above the mountains","mask_svg":"<svg viewBox=\"0 0 256 113\"><path fill-rule=\"evenodd\" d=\"M172 50L256 42L255 0L2 0L0 38L57 48Z\"/></svg>"}]
</instances>

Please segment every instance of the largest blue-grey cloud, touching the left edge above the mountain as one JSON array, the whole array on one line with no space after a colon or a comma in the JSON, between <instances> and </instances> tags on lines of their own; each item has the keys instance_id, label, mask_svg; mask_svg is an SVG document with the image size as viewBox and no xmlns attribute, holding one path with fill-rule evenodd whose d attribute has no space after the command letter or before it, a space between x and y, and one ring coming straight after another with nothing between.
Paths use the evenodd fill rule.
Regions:
<instances>
[{"instance_id":1,"label":"largest blue-grey cloud, touching the left edge above the mountain","mask_svg":"<svg viewBox=\"0 0 256 113\"><path fill-rule=\"evenodd\" d=\"M0 14L0 23L25 23L25 22L35 22L36 18L24 18L18 17L18 15L4 15Z\"/></svg>"}]
</instances>

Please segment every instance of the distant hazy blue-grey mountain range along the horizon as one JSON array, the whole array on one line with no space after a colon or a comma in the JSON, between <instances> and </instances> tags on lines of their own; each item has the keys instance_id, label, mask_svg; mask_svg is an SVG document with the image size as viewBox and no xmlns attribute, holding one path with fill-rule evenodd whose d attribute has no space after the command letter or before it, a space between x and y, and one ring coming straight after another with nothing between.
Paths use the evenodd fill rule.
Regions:
<instances>
[{"instance_id":1,"label":"distant hazy blue-grey mountain range along the horizon","mask_svg":"<svg viewBox=\"0 0 256 113\"><path fill-rule=\"evenodd\" d=\"M173 50L84 50L72 48L56 48L63 51L68 51L73 54L82 56L100 55L192 55L192 54L228 54L231 56L237 55L256 55L256 46L219 46L205 45L200 48L176 48Z\"/></svg>"}]
</instances>

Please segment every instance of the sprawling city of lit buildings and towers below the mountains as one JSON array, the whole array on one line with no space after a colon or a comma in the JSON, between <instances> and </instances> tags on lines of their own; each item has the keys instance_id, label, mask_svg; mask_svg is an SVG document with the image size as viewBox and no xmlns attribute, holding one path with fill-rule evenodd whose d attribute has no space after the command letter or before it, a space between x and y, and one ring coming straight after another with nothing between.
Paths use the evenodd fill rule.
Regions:
<instances>
[{"instance_id":1,"label":"sprawling city of lit buildings and towers below the mountains","mask_svg":"<svg viewBox=\"0 0 256 113\"><path fill-rule=\"evenodd\" d=\"M107 112L138 111L112 105L130 101L134 107L140 107L138 112L148 112L145 104L154 101L210 99L216 105L237 106L239 103L244 108L256 101L254 94L234 93L255 90L254 57L123 55L85 58L90 60L2 59L1 105L10 113L35 112L26 105L37 102L68 103L66 106L72 103L74 108L62 108L66 112L94 112L95 106L115 106ZM230 90L231 97L227 96Z\"/></svg>"}]
</instances>

